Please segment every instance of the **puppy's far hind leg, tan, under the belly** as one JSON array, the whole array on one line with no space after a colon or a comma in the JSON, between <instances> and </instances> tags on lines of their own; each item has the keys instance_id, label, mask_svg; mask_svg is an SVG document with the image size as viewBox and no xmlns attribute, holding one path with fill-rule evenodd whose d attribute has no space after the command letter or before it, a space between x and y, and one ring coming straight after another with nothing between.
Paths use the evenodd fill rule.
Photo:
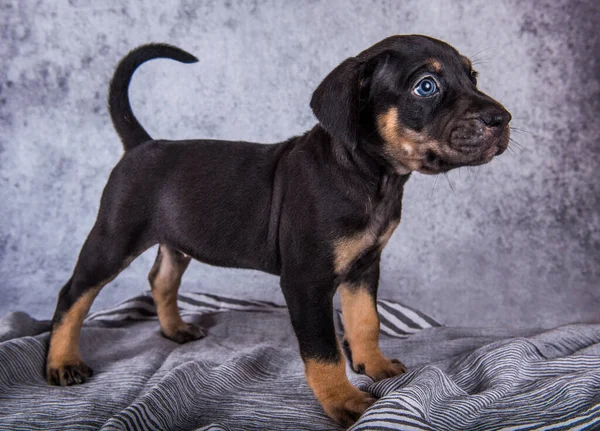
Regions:
<instances>
[{"instance_id":1,"label":"puppy's far hind leg, tan, under the belly","mask_svg":"<svg viewBox=\"0 0 600 431\"><path fill-rule=\"evenodd\" d=\"M189 256L161 244L156 261L148 274L162 334L180 344L198 340L206 335L200 326L184 322L177 308L181 277L190 260Z\"/></svg>"}]
</instances>

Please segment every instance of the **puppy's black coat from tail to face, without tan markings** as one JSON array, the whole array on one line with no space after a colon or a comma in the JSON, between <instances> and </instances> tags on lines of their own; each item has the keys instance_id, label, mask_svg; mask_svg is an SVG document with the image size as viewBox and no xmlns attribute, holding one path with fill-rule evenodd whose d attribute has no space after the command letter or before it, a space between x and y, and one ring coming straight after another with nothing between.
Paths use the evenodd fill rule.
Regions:
<instances>
[{"instance_id":1,"label":"puppy's black coat from tail to face, without tan markings","mask_svg":"<svg viewBox=\"0 0 600 431\"><path fill-rule=\"evenodd\" d=\"M381 234L399 221L410 175L386 151L378 115L396 108L403 126L427 133L441 150L456 147L447 160L443 151L427 153L425 173L487 162L488 147L496 151L496 145L498 154L506 148L503 140L492 142L488 129L496 136L509 114L476 89L456 50L424 36L388 38L345 60L313 94L319 123L273 145L152 140L131 112L127 88L135 69L158 57L197 61L178 48L151 44L119 64L109 104L126 153L59 295L54 325L88 289L161 243L208 264L280 275L302 357L339 361L333 296L340 283L361 282L375 298L381 250L366 247L336 273L336 241L367 227ZM443 73L428 69L430 58ZM440 94L414 95L423 73L435 75ZM473 138L465 137L469 133ZM464 142L456 144L453 134Z\"/></svg>"}]
</instances>

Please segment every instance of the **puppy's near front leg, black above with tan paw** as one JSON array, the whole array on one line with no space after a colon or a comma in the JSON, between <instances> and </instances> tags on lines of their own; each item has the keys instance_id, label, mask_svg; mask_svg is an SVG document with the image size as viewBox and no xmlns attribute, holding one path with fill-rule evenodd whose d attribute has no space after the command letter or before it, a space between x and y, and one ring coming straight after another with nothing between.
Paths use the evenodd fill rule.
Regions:
<instances>
[{"instance_id":1,"label":"puppy's near front leg, black above with tan paw","mask_svg":"<svg viewBox=\"0 0 600 431\"><path fill-rule=\"evenodd\" d=\"M327 415L350 426L375 402L352 386L333 325L333 280L315 281L301 272L284 272L282 289L298 337L308 386Z\"/></svg>"}]
</instances>

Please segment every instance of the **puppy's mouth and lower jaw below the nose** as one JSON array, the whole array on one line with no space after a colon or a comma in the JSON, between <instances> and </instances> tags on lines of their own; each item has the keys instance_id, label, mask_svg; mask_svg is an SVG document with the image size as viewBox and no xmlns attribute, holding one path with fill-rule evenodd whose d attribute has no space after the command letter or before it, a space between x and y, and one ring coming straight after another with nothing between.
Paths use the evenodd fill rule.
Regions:
<instances>
[{"instance_id":1,"label":"puppy's mouth and lower jaw below the nose","mask_svg":"<svg viewBox=\"0 0 600 431\"><path fill-rule=\"evenodd\" d=\"M474 131L459 128L450 134L447 143L438 142L438 145L425 152L418 171L435 175L462 166L483 165L504 153L509 141L508 125L500 134L492 134L485 128Z\"/></svg>"}]
</instances>

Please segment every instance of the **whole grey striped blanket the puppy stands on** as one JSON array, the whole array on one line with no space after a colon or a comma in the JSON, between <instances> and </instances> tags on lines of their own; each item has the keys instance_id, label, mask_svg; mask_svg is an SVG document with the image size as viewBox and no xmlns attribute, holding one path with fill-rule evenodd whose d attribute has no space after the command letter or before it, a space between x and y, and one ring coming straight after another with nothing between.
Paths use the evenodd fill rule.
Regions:
<instances>
[{"instance_id":1,"label":"whole grey striped blanket the puppy stands on","mask_svg":"<svg viewBox=\"0 0 600 431\"><path fill-rule=\"evenodd\" d=\"M284 307L179 299L206 338L166 340L151 297L132 298L88 316L81 350L95 375L67 388L43 378L49 322L0 319L0 429L338 429L304 381ZM448 328L396 302L378 310L383 351L410 371L373 383L348 368L379 398L353 430L600 430L600 325Z\"/></svg>"}]
</instances>

